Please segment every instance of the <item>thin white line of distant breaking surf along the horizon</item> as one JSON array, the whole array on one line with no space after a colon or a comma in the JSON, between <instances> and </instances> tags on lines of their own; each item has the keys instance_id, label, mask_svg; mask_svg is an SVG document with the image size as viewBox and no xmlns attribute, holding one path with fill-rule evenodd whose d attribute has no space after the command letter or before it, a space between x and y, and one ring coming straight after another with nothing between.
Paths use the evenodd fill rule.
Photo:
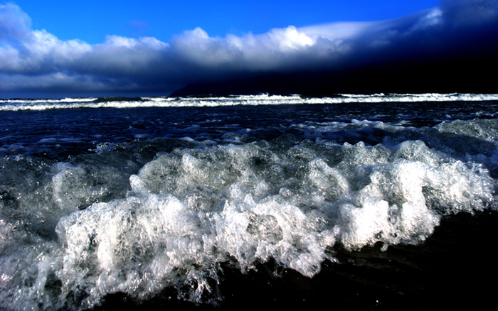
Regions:
<instances>
[{"instance_id":1,"label":"thin white line of distant breaking surf along the horizon","mask_svg":"<svg viewBox=\"0 0 498 311\"><path fill-rule=\"evenodd\" d=\"M498 100L498 94L337 94L333 97L300 95L238 95L229 97L92 97L64 99L0 99L0 111L135 108L135 107L218 107L274 104L344 104L381 102L469 102Z\"/></svg>"}]
</instances>

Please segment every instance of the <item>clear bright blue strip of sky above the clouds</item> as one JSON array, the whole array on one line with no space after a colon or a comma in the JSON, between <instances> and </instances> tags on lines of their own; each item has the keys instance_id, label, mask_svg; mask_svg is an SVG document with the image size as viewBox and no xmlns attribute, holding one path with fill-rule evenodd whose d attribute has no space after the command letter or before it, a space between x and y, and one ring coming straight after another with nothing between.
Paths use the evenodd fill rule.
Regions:
<instances>
[{"instance_id":1,"label":"clear bright blue strip of sky above the clouds","mask_svg":"<svg viewBox=\"0 0 498 311\"><path fill-rule=\"evenodd\" d=\"M5 2L5 1L4 1ZM272 28L309 26L333 21L381 21L438 6L438 0L16 0L34 29L61 40L102 43L107 35L162 41L183 31L203 28L210 36L265 33Z\"/></svg>"}]
</instances>

